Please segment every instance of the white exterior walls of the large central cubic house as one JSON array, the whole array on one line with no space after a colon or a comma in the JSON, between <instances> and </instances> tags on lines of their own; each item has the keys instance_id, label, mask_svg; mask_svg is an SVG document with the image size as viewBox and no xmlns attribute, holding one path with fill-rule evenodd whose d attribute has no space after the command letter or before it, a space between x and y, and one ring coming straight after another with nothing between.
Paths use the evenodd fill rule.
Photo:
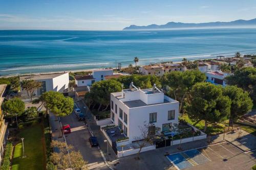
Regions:
<instances>
[{"instance_id":1,"label":"white exterior walls of the large central cubic house","mask_svg":"<svg viewBox=\"0 0 256 170\"><path fill-rule=\"evenodd\" d=\"M135 92L135 91L133 91ZM136 95L133 95L136 96ZM125 95L126 98L126 95ZM163 96L164 98L164 96ZM165 98L168 99L168 98ZM154 123L156 127L159 127L162 131L162 125L167 123L177 124L179 117L179 102L171 101L172 103L161 103L156 105L148 105L143 107L129 108L120 99L118 100L113 94L111 94L111 101L113 101L114 123L118 126L118 119L127 127L127 137L132 142L136 137L141 136L140 128L145 124L150 123L150 113L157 112L157 122ZM138 99L135 99L138 100ZM129 100L130 101L130 100ZM117 113L115 112L115 104L117 105ZM119 118L119 108L123 111L123 119ZM168 111L175 110L175 119L168 120ZM127 124L124 123L124 113L127 114ZM112 114L111 114L112 118Z\"/></svg>"}]
</instances>

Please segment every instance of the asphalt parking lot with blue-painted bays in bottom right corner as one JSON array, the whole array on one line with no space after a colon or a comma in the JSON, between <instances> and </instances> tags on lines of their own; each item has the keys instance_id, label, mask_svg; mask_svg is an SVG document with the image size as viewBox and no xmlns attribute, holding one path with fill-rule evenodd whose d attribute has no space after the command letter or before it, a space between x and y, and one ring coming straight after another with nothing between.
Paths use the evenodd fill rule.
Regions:
<instances>
[{"instance_id":1,"label":"asphalt parking lot with blue-painted bays in bottom right corner","mask_svg":"<svg viewBox=\"0 0 256 170\"><path fill-rule=\"evenodd\" d=\"M255 156L243 153L228 142L170 154L166 158L176 169L250 169L255 161Z\"/></svg>"}]
</instances>

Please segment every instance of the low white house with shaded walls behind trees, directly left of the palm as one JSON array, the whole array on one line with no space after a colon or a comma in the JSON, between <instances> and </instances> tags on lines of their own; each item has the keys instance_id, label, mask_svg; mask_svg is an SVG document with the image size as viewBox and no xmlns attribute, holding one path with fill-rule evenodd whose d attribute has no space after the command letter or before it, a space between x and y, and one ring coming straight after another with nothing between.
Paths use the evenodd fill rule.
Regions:
<instances>
[{"instance_id":1,"label":"low white house with shaded walls behind trees, directly left of the palm","mask_svg":"<svg viewBox=\"0 0 256 170\"><path fill-rule=\"evenodd\" d=\"M95 69L91 75L75 77L75 83L78 87L91 86L94 82L105 80L105 77L112 76L113 69Z\"/></svg>"}]
</instances>

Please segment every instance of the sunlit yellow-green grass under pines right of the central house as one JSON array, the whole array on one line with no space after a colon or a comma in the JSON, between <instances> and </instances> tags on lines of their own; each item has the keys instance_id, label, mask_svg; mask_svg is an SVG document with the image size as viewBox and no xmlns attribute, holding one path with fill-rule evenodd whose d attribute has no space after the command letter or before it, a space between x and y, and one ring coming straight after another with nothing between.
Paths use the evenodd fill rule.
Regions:
<instances>
[{"instance_id":1,"label":"sunlit yellow-green grass under pines right of the central house","mask_svg":"<svg viewBox=\"0 0 256 170\"><path fill-rule=\"evenodd\" d=\"M190 125L195 126L199 130L204 130L204 120L201 120L200 122L196 122L191 120L188 115L184 114L182 117L180 117L181 120L184 120L185 122L189 123ZM216 135L219 133L222 133L224 130L224 125L218 124L218 125L211 125L209 124L206 129L206 134Z\"/></svg>"}]
</instances>

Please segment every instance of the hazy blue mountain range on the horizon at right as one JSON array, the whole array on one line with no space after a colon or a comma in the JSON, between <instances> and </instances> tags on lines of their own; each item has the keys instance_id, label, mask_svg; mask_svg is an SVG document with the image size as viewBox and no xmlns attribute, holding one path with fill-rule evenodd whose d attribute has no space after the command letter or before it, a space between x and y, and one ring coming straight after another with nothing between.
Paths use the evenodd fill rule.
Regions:
<instances>
[{"instance_id":1,"label":"hazy blue mountain range on the horizon at right","mask_svg":"<svg viewBox=\"0 0 256 170\"><path fill-rule=\"evenodd\" d=\"M206 22L206 23L182 23L168 22L165 25L148 25L135 26L131 25L123 30L154 30L154 29L174 29L174 28L204 28L204 27L241 27L241 26L256 26L256 18L250 20L234 20L230 22Z\"/></svg>"}]
</instances>

